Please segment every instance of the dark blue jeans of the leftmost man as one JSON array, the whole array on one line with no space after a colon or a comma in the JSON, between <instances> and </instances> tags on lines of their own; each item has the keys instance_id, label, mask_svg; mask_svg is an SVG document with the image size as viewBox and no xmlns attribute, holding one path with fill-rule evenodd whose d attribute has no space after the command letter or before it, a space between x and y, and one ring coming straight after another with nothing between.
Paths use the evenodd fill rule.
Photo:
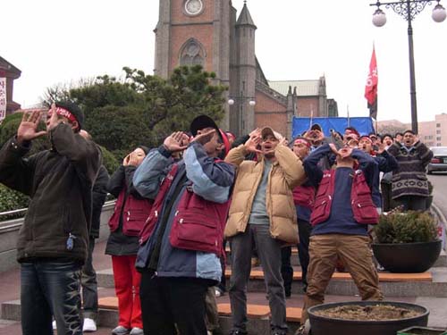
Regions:
<instances>
[{"instance_id":1,"label":"dark blue jeans of the leftmost man","mask_svg":"<svg viewBox=\"0 0 447 335\"><path fill-rule=\"evenodd\" d=\"M23 335L81 335L80 264L36 260L21 264Z\"/></svg>"}]
</instances>

